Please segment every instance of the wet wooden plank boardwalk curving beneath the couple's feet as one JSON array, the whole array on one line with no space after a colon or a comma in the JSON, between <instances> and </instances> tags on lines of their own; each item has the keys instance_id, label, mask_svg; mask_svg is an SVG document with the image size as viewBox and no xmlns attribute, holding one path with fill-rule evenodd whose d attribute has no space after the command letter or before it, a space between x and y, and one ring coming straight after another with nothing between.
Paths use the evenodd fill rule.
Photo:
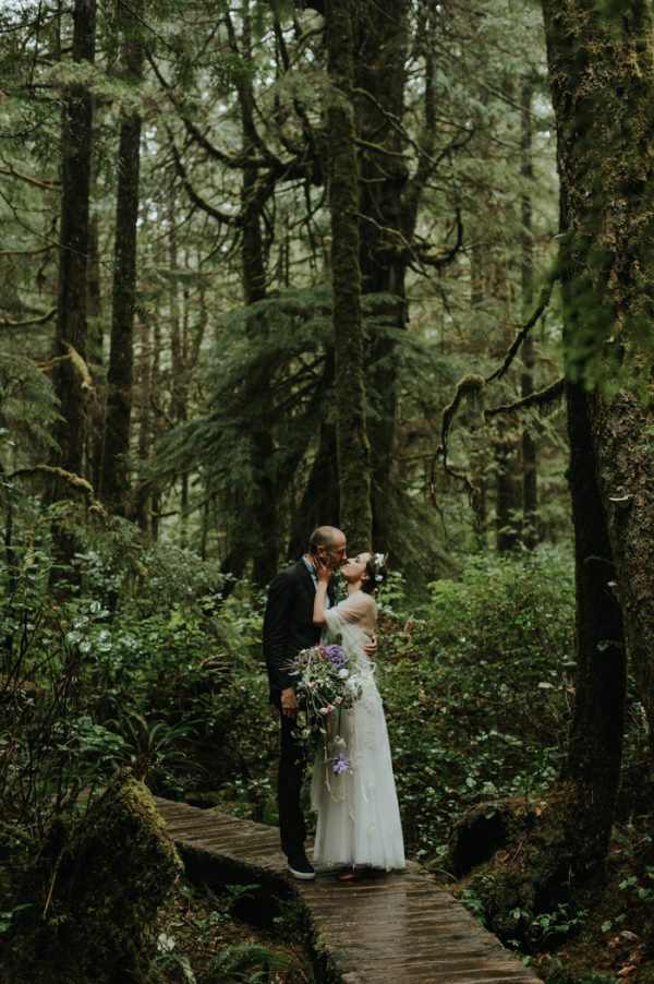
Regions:
<instances>
[{"instance_id":1,"label":"wet wooden plank boardwalk curving beneath the couple's feet","mask_svg":"<svg viewBox=\"0 0 654 984\"><path fill-rule=\"evenodd\" d=\"M168 833L191 879L217 887L235 881L261 887L265 903L296 898L306 910L326 980L347 984L519 984L538 977L524 968L433 877L407 871L341 884L332 874L296 881L286 872L276 827L157 800ZM250 913L255 916L256 912Z\"/></svg>"}]
</instances>

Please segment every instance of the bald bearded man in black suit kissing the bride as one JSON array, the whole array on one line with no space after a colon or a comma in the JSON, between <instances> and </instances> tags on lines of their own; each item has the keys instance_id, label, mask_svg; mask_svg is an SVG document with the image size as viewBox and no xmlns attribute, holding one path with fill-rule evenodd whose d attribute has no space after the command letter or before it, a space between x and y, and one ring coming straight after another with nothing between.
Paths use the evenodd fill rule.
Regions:
<instances>
[{"instance_id":1,"label":"bald bearded man in black suit kissing the bride","mask_svg":"<svg viewBox=\"0 0 654 984\"><path fill-rule=\"evenodd\" d=\"M318 585L318 567L336 567L346 559L346 535L335 526L319 526L311 535L307 552L278 574L268 589L264 615L264 653L270 684L270 703L280 710L281 752L279 758L279 832L281 850L295 878L310 880L315 872L304 852L306 825L300 793L306 752L298 724L298 698L287 664L301 649L320 638L320 626L313 624L313 607ZM327 588L328 607L335 602L335 588Z\"/></svg>"}]
</instances>

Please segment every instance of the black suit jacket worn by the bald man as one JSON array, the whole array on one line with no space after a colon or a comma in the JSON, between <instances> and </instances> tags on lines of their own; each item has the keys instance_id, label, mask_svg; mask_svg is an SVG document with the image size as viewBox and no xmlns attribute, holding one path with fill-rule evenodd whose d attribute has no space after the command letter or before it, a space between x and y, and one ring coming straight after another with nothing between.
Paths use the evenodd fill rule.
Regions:
<instances>
[{"instance_id":1,"label":"black suit jacket worn by the bald man","mask_svg":"<svg viewBox=\"0 0 654 984\"><path fill-rule=\"evenodd\" d=\"M334 587L327 587L334 604ZM301 649L314 646L320 638L320 626L313 624L316 587L302 557L282 571L270 584L264 615L264 655L268 668L270 703L279 704L281 692L293 686L284 664Z\"/></svg>"}]
</instances>

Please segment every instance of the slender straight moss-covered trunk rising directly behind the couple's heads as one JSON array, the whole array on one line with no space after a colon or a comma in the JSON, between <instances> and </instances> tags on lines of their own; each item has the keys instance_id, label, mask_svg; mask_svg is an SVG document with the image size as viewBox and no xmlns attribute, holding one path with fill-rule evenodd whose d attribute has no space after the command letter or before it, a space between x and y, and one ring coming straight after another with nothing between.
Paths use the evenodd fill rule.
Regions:
<instances>
[{"instance_id":1,"label":"slender straight moss-covered trunk rising directly behind the couple's heads","mask_svg":"<svg viewBox=\"0 0 654 984\"><path fill-rule=\"evenodd\" d=\"M327 106L331 283L340 524L358 550L372 542L371 448L366 432L359 244L359 171L352 101L355 0L327 0L331 88Z\"/></svg>"}]
</instances>

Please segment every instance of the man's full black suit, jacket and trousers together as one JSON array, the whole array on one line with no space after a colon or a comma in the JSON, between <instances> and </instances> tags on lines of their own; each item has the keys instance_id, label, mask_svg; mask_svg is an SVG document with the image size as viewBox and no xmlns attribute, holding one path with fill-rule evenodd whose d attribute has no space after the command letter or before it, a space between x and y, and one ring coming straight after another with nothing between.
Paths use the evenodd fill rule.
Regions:
<instances>
[{"instance_id":1,"label":"man's full black suit, jacket and trousers together","mask_svg":"<svg viewBox=\"0 0 654 984\"><path fill-rule=\"evenodd\" d=\"M328 591L331 597L331 583ZM270 584L264 615L264 653L270 685L270 703L280 711L281 745L279 756L278 806L281 850L287 856L304 851L306 824L300 805L306 769L306 752L301 725L281 713L281 692L294 685L288 663L320 638L313 624L316 587L304 560L287 567Z\"/></svg>"}]
</instances>

